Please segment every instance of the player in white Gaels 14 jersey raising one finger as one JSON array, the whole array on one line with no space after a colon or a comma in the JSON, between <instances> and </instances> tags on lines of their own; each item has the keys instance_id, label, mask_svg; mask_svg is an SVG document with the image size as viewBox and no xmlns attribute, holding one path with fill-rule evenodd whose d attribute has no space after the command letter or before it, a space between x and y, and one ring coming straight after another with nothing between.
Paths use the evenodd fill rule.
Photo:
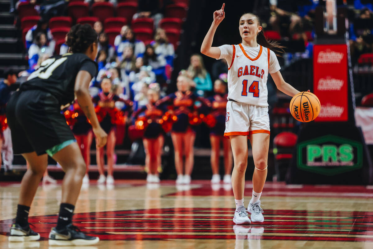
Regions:
<instances>
[{"instance_id":1,"label":"player in white Gaels 14 jersey raising one finger","mask_svg":"<svg viewBox=\"0 0 373 249\"><path fill-rule=\"evenodd\" d=\"M282 47L266 40L258 16L246 13L239 19L241 44L211 47L216 28L225 17L224 6L223 3L222 9L214 12L214 19L203 40L201 53L215 59L224 58L228 63L229 101L224 136L231 139L234 159L232 188L236 211L233 222L250 224L264 221L260 195L267 177L270 134L267 103L268 73L283 93L294 96L299 91L283 80L277 57L270 50L280 52ZM244 206L247 138L250 138L255 164L253 195L247 208L251 213L251 221Z\"/></svg>"}]
</instances>

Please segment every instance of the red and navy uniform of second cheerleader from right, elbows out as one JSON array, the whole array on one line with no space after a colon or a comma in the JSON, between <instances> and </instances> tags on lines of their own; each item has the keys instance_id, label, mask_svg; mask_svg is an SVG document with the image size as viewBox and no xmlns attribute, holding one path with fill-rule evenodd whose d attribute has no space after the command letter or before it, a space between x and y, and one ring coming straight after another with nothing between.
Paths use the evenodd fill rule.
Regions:
<instances>
[{"instance_id":1,"label":"red and navy uniform of second cheerleader from right, elbows out","mask_svg":"<svg viewBox=\"0 0 373 249\"><path fill-rule=\"evenodd\" d=\"M173 132L186 132L188 128L194 130L194 126L189 123L191 114L198 111L195 106L195 102L201 102L203 106L210 106L209 101L203 97L197 96L191 91L176 91L175 93L169 94L163 99L157 102L157 105L170 103L170 107L173 109L173 114L177 116L177 121L172 125Z\"/></svg>"}]
</instances>

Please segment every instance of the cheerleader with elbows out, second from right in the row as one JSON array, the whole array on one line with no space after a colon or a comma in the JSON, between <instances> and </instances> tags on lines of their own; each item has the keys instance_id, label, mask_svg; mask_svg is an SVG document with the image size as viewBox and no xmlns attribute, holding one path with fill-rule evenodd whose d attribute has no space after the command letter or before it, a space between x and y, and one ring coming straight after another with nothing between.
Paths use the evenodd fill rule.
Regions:
<instances>
[{"instance_id":1,"label":"cheerleader with elbows out, second from right in the row","mask_svg":"<svg viewBox=\"0 0 373 249\"><path fill-rule=\"evenodd\" d=\"M176 86L178 91L161 99L157 105L171 103L177 121L172 125L171 138L175 150L175 167L178 177L176 184L189 184L194 164L195 131L192 125L199 122L195 102L209 106L207 100L190 91L193 81L186 75L179 75ZM183 162L185 156L185 163Z\"/></svg>"}]
</instances>

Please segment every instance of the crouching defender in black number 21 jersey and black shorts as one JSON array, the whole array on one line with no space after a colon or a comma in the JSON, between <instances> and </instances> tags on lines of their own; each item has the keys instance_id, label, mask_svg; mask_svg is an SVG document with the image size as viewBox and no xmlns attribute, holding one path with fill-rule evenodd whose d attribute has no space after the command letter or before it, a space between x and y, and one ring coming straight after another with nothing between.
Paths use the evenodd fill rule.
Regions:
<instances>
[{"instance_id":1,"label":"crouching defender in black number 21 jersey and black shorts","mask_svg":"<svg viewBox=\"0 0 373 249\"><path fill-rule=\"evenodd\" d=\"M45 60L33 72L7 105L13 151L21 154L30 167L23 176L15 224L9 241L38 240L31 230L28 212L38 184L47 168L47 154L65 171L62 203L57 226L49 234L49 245L93 245L98 237L87 236L72 225L72 215L85 174L85 162L75 138L61 113L75 96L90 120L97 146L106 143L107 134L100 127L88 87L97 73L97 34L88 25L75 25L67 35L71 53Z\"/></svg>"}]
</instances>

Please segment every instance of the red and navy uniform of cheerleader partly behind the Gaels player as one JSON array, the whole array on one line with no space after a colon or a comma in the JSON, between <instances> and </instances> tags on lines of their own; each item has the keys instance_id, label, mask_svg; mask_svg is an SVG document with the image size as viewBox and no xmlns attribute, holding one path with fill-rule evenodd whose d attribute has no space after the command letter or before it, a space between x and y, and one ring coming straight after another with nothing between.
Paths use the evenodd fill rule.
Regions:
<instances>
[{"instance_id":1,"label":"red and navy uniform of cheerleader partly behind the Gaels player","mask_svg":"<svg viewBox=\"0 0 373 249\"><path fill-rule=\"evenodd\" d=\"M211 103L210 115L216 120L215 125L210 127L210 134L212 135L224 136L227 96L228 94L216 94L207 98Z\"/></svg>"}]
</instances>

